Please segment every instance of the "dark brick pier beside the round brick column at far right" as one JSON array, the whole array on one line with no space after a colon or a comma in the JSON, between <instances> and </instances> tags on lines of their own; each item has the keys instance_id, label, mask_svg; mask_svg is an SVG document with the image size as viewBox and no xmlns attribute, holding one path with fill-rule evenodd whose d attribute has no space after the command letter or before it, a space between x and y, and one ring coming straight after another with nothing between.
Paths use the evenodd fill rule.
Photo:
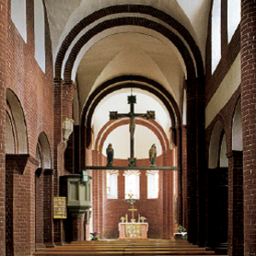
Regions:
<instances>
[{"instance_id":1,"label":"dark brick pier beside the round brick column at far right","mask_svg":"<svg viewBox=\"0 0 256 256\"><path fill-rule=\"evenodd\" d=\"M229 158L229 235L228 254L243 255L243 169L242 151L232 151Z\"/></svg>"}]
</instances>

